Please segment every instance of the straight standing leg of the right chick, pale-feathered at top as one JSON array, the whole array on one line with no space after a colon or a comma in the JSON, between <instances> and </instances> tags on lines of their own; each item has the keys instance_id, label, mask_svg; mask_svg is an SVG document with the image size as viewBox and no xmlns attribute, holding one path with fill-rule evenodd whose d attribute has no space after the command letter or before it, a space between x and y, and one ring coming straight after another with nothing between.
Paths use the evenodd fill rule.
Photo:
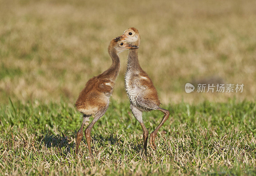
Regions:
<instances>
[{"instance_id":1,"label":"straight standing leg of the right chick, pale-feathered at top","mask_svg":"<svg viewBox=\"0 0 256 176\"><path fill-rule=\"evenodd\" d=\"M141 128L143 130L143 147L145 149L145 153L147 154L148 129L143 123L142 112L132 104L130 105L130 108L132 110L132 114L134 115L134 117L140 122Z\"/></svg>"}]
</instances>

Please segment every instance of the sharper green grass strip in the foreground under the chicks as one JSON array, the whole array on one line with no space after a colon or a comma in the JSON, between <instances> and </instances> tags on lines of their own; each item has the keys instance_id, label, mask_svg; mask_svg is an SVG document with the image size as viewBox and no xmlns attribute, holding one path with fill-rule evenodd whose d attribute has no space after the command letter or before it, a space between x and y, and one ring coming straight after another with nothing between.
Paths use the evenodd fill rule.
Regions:
<instances>
[{"instance_id":1,"label":"sharper green grass strip in the foreground under the chicks","mask_svg":"<svg viewBox=\"0 0 256 176\"><path fill-rule=\"evenodd\" d=\"M163 106L171 112L156 138L142 150L142 130L129 103L111 101L92 129L95 163L83 139L74 157L82 119L72 104L20 101L0 105L0 174L45 175L255 175L256 103L204 102ZM162 119L143 114L150 132Z\"/></svg>"}]
</instances>

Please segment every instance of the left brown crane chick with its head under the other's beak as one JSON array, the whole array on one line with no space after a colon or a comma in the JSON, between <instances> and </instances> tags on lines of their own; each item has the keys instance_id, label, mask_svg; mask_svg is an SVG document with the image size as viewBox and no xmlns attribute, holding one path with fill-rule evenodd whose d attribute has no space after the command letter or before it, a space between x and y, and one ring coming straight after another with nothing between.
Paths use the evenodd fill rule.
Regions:
<instances>
[{"instance_id":1,"label":"left brown crane chick with its head under the other's beak","mask_svg":"<svg viewBox=\"0 0 256 176\"><path fill-rule=\"evenodd\" d=\"M90 116L94 116L91 124L84 131L89 153L91 158L93 158L91 150L91 130L97 120L99 120L108 109L109 98L112 95L115 81L120 70L118 53L132 48L136 49L139 47L124 41L115 41L112 39L108 46L108 54L112 59L112 65L105 72L88 80L85 88L80 92L75 107L77 111L83 114L83 122L76 134L76 154L83 138L84 124L89 120Z\"/></svg>"}]
</instances>

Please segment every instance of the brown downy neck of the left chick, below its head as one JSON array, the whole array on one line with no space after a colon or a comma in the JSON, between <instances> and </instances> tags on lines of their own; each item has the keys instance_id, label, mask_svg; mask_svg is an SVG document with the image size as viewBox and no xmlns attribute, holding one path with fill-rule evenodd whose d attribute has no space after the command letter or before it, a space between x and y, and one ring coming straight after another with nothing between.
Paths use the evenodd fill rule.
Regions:
<instances>
[{"instance_id":1,"label":"brown downy neck of the left chick, below its head","mask_svg":"<svg viewBox=\"0 0 256 176\"><path fill-rule=\"evenodd\" d=\"M116 50L108 50L108 54L112 59L112 65L102 73L108 79L116 80L118 73L120 71L120 59L116 53Z\"/></svg>"}]
</instances>

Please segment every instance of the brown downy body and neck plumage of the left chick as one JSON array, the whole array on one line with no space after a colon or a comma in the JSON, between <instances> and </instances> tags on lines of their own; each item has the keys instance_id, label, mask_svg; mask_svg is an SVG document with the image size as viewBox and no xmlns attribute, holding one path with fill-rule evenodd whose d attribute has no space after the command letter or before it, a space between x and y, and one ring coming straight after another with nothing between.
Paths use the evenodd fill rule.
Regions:
<instances>
[{"instance_id":1,"label":"brown downy body and neck plumage of the left chick","mask_svg":"<svg viewBox=\"0 0 256 176\"><path fill-rule=\"evenodd\" d=\"M105 72L88 80L76 100L75 107L77 111L92 115L108 104L109 96L112 94L120 71L120 60L117 51L114 49L115 44L116 42L111 40L108 46L112 65Z\"/></svg>"}]
</instances>

